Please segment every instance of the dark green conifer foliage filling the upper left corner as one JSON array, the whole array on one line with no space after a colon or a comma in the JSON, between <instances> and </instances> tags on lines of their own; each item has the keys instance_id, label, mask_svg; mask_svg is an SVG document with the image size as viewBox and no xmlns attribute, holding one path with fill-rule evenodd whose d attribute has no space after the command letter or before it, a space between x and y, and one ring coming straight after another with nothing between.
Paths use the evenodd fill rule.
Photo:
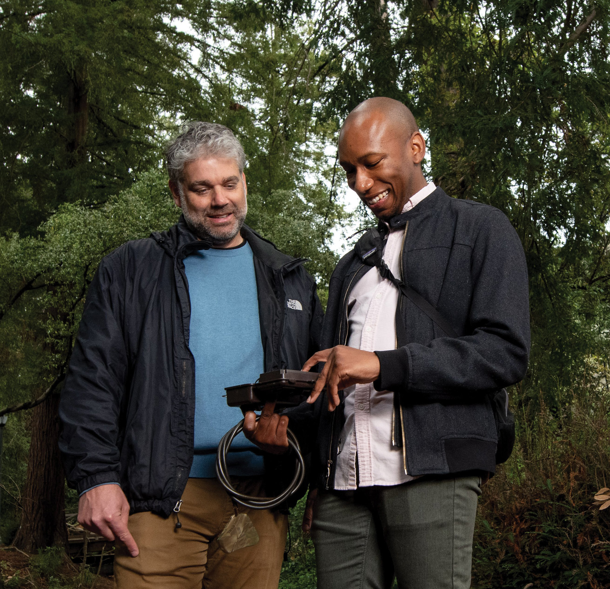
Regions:
<instances>
[{"instance_id":1,"label":"dark green conifer foliage filling the upper left corner","mask_svg":"<svg viewBox=\"0 0 610 589\"><path fill-rule=\"evenodd\" d=\"M162 113L199 84L190 4L0 2L0 230L32 233L62 202L103 202L159 160Z\"/></svg>"}]
</instances>

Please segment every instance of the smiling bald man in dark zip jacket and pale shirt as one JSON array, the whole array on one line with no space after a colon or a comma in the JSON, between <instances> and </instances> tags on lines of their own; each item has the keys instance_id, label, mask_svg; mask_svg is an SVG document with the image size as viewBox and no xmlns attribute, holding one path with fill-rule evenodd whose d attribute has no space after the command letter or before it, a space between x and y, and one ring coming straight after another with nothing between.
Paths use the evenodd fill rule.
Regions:
<instances>
[{"instance_id":1,"label":"smiling bald man in dark zip jacket and pale shirt","mask_svg":"<svg viewBox=\"0 0 610 589\"><path fill-rule=\"evenodd\" d=\"M290 416L317 430L303 527L321 589L470 587L481 480L507 451L492 402L525 376L519 238L499 210L427 182L425 150L389 98L362 102L339 135L348 185L379 223L332 274L325 349L304 365L324 363L313 408Z\"/></svg>"}]
</instances>

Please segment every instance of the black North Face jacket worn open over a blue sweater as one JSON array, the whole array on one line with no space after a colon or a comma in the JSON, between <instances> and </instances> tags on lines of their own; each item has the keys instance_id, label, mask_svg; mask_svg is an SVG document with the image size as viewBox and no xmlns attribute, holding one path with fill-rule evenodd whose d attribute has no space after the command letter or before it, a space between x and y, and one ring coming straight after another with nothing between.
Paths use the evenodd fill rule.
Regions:
<instances>
[{"instance_id":1,"label":"black North Face jacket worn open over a blue sweater","mask_svg":"<svg viewBox=\"0 0 610 589\"><path fill-rule=\"evenodd\" d=\"M306 260L249 227L265 371L300 369L319 349L323 312ZM195 360L182 260L201 241L180 218L99 265L60 403L60 449L79 493L121 484L132 512L169 515L193 461ZM228 354L231 351L227 351Z\"/></svg>"}]
</instances>

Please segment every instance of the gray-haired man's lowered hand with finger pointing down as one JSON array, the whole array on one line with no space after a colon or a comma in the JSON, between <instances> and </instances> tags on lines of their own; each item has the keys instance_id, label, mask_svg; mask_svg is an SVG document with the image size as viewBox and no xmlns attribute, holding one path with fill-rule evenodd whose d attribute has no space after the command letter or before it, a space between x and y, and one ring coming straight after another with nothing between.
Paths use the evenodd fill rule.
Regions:
<instances>
[{"instance_id":1,"label":"gray-haired man's lowered hand with finger pointing down","mask_svg":"<svg viewBox=\"0 0 610 589\"><path fill-rule=\"evenodd\" d=\"M81 496L78 502L78 521L87 530L102 535L106 540L120 540L129 554L140 554L134 537L127 529L129 502L119 485L101 485Z\"/></svg>"}]
</instances>

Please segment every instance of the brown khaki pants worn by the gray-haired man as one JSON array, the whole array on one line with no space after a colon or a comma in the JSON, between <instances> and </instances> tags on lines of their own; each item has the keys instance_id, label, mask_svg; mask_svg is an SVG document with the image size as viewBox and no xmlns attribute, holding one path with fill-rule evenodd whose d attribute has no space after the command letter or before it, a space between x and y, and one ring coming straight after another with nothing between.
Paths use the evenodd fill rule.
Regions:
<instances>
[{"instance_id":1,"label":"brown khaki pants worn by the gray-haired man","mask_svg":"<svg viewBox=\"0 0 610 589\"><path fill-rule=\"evenodd\" d=\"M233 477L242 493L263 495L262 477ZM129 531L140 554L134 558L117 545L118 589L277 589L288 530L288 518L269 510L239 508L248 513L259 542L226 554L215 540L235 513L216 479L188 479L176 515L165 519L151 512L129 516Z\"/></svg>"}]
</instances>

